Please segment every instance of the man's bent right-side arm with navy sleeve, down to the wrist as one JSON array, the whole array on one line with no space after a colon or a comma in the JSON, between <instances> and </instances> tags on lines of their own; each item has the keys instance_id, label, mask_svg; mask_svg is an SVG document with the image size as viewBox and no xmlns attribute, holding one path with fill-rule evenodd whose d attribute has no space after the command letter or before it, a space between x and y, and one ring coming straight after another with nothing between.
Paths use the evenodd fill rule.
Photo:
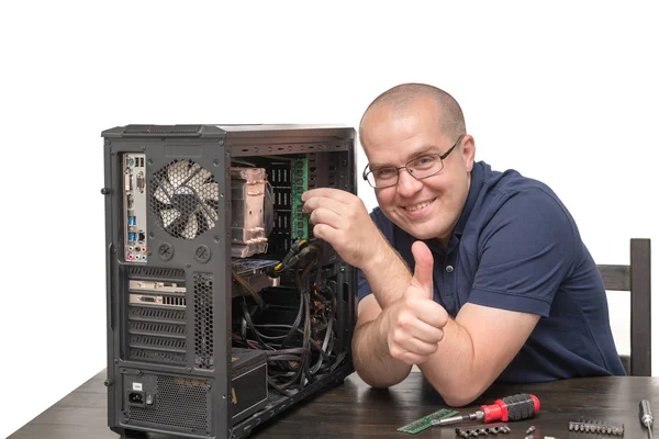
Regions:
<instances>
[{"instance_id":1,"label":"man's bent right-side arm with navy sleeve, down to the wrist","mask_svg":"<svg viewBox=\"0 0 659 439\"><path fill-rule=\"evenodd\" d=\"M576 258L569 214L545 189L505 200L480 235L469 302L420 369L447 404L470 403L517 354ZM551 359L548 359L551 361Z\"/></svg>"}]
</instances>

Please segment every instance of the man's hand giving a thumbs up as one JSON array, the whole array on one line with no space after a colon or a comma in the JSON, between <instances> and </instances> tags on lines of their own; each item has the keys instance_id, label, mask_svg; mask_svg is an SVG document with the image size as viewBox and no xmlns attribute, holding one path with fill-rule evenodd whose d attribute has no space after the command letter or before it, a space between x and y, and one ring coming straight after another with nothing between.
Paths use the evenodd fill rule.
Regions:
<instances>
[{"instance_id":1,"label":"man's hand giving a thumbs up","mask_svg":"<svg viewBox=\"0 0 659 439\"><path fill-rule=\"evenodd\" d=\"M437 350L448 322L446 309L433 301L433 255L422 241L412 245L414 275L403 296L383 311L391 357L421 364Z\"/></svg>"}]
</instances>

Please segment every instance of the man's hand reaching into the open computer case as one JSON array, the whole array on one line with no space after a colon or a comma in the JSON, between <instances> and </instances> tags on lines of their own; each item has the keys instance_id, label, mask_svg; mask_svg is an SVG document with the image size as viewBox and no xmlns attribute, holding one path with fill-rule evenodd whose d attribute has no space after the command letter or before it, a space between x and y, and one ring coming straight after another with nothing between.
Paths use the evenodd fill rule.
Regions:
<instances>
[{"instance_id":1,"label":"man's hand reaching into the open computer case","mask_svg":"<svg viewBox=\"0 0 659 439\"><path fill-rule=\"evenodd\" d=\"M303 211L310 213L313 234L327 243L343 260L364 269L382 249L384 238L364 202L338 189L312 189L302 194Z\"/></svg>"}]
</instances>

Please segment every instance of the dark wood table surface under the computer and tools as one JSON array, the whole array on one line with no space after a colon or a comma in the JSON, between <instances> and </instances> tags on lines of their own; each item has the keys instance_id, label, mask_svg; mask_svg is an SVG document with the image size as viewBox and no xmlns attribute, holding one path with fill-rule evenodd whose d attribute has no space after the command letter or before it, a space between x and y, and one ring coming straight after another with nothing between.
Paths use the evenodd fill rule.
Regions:
<instances>
[{"instance_id":1,"label":"dark wood table surface under the computer and tools","mask_svg":"<svg viewBox=\"0 0 659 439\"><path fill-rule=\"evenodd\" d=\"M23 426L10 439L118 439L107 427L107 396L102 371L57 404ZM509 423L509 435L489 438L524 438L525 430L535 426L534 438L616 437L568 430L571 418L588 418L623 423L625 437L647 438L638 420L638 403L649 399L659 414L659 378L585 378L544 384L494 384L474 404L460 408L460 414L477 409L481 404L515 393L532 393L540 399L540 410L533 418ZM249 438L456 438L455 426L431 427L417 435L396 431L413 420L445 408L438 394L418 372L389 390L375 390L357 374L344 384L312 396L255 429ZM461 424L462 426L477 423ZM154 435L169 439L170 436Z\"/></svg>"}]
</instances>

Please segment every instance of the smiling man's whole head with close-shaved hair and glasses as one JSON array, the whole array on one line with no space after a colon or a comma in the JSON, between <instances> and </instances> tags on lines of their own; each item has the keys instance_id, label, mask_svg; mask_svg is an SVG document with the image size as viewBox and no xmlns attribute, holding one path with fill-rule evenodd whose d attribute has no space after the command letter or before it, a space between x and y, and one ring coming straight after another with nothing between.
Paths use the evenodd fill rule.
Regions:
<instances>
[{"instance_id":1,"label":"smiling man's whole head with close-shaved hair and glasses","mask_svg":"<svg viewBox=\"0 0 659 439\"><path fill-rule=\"evenodd\" d=\"M476 151L456 100L432 86L396 86L368 106L359 136L369 160L367 172L380 172L387 183L395 181L395 171L382 168L409 164L420 177L426 164L431 173L440 168L420 179L401 168L398 184L376 189L376 196L382 212L412 236L447 241L467 201Z\"/></svg>"}]
</instances>

